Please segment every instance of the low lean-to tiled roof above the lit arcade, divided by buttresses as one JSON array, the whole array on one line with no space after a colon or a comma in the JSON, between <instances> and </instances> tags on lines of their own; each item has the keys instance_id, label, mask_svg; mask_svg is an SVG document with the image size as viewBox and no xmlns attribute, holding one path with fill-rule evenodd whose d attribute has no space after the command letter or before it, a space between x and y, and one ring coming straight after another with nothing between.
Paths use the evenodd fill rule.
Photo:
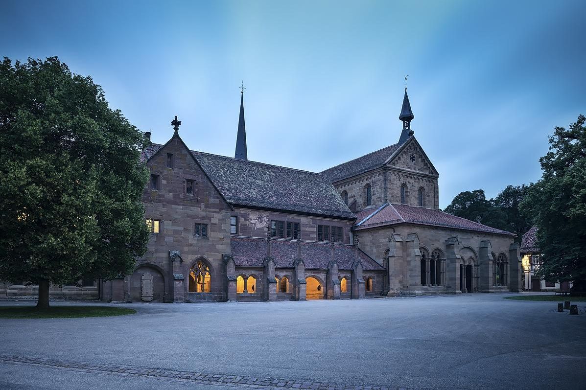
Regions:
<instances>
[{"instance_id":1,"label":"low lean-to tiled roof above the lit arcade, divided by buttresses","mask_svg":"<svg viewBox=\"0 0 586 390\"><path fill-rule=\"evenodd\" d=\"M237 266L263 266L263 260L267 255L267 241L266 238L232 236L230 243L234 263ZM297 258L297 241L272 239L271 256L277 268L292 268L293 262ZM384 269L383 266L353 245L334 244L334 258L338 262L339 269L352 269L356 256L362 261L362 267L365 271L382 271ZM332 244L301 241L301 258L305 268L328 269L328 263L332 259Z\"/></svg>"}]
</instances>

